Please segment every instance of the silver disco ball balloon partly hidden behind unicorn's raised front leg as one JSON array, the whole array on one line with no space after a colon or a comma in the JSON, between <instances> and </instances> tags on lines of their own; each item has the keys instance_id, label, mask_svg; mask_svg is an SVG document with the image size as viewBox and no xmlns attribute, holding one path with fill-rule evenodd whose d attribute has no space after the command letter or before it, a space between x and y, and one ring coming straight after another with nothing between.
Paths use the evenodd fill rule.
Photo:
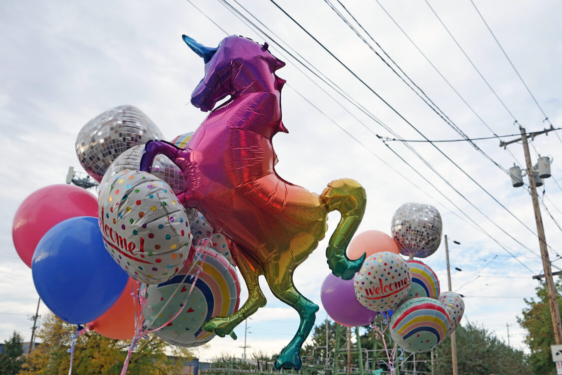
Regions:
<instances>
[{"instance_id":1,"label":"silver disco ball balloon partly hidden behind unicorn's raised front leg","mask_svg":"<svg viewBox=\"0 0 562 375\"><path fill-rule=\"evenodd\" d=\"M117 156L103 175L102 182L99 184L99 191L105 189L112 178L125 169L138 170L140 157L144 150L144 144L134 146ZM164 180L170 185L175 195L185 191L185 179L182 171L167 156L157 155L152 163L151 174Z\"/></svg>"}]
</instances>

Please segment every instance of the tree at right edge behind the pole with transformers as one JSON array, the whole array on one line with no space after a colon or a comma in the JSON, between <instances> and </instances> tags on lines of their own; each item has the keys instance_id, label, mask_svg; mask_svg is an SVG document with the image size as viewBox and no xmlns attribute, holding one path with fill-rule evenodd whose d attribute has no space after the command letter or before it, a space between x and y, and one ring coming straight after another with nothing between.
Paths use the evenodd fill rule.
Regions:
<instances>
[{"instance_id":1,"label":"tree at right edge behind the pole with transformers","mask_svg":"<svg viewBox=\"0 0 562 375\"><path fill-rule=\"evenodd\" d=\"M555 282L556 291L562 291L560 278ZM556 344L554 341L554 331L552 331L552 319L550 317L549 295L546 291L546 284L535 288L538 300L527 300L527 308L523 309L523 317L517 318L521 327L527 330L525 343L531 349L529 364L533 372L537 375L555 374L556 369L552 363L550 345ZM558 309L562 306L561 298L558 297Z\"/></svg>"}]
</instances>

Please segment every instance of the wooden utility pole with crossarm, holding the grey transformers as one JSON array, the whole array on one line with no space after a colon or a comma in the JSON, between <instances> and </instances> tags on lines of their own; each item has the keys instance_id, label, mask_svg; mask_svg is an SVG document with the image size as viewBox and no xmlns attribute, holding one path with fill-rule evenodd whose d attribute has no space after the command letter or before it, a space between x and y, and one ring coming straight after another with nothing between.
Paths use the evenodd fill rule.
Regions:
<instances>
[{"instance_id":1,"label":"wooden utility pole with crossarm, holding the grey transformers","mask_svg":"<svg viewBox=\"0 0 562 375\"><path fill-rule=\"evenodd\" d=\"M545 271L546 291L549 294L550 316L552 318L552 329L554 329L554 341L556 345L562 344L562 324L560 323L560 310L558 309L558 301L556 301L556 288L552 279L552 270L550 268L549 251L546 248L545 229L542 227L541 209L538 206L537 185L534 180L533 167L531 164L531 155L529 154L529 143L527 142L527 131L519 126L521 138L509 142L500 142L500 147L507 144L523 141L523 151L525 153L525 164L527 165L527 176L529 177L529 188L531 189L531 198L533 200L534 217L537 223L538 243L541 249L542 268ZM532 133L532 137L538 134L548 133L551 129L545 129L542 132Z\"/></svg>"}]
</instances>

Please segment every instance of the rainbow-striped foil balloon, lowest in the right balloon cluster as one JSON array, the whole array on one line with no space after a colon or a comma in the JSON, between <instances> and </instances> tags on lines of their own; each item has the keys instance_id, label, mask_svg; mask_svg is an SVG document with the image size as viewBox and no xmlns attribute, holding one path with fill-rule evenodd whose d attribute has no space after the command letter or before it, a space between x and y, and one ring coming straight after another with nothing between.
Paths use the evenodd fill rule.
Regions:
<instances>
[{"instance_id":1,"label":"rainbow-striped foil balloon, lowest in the right balloon cluster","mask_svg":"<svg viewBox=\"0 0 562 375\"><path fill-rule=\"evenodd\" d=\"M432 350L447 337L450 329L445 305L428 297L403 302L390 321L390 335L409 353Z\"/></svg>"}]
</instances>

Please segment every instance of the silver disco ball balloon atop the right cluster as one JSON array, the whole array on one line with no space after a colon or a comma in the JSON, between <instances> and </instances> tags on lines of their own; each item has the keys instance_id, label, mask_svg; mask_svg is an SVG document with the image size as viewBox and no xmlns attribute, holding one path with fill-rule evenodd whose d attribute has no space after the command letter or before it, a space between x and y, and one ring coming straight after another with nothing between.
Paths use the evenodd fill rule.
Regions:
<instances>
[{"instance_id":1,"label":"silver disco ball balloon atop the right cluster","mask_svg":"<svg viewBox=\"0 0 562 375\"><path fill-rule=\"evenodd\" d=\"M402 255L432 255L441 243L442 232L441 215L432 205L406 203L392 216L392 237Z\"/></svg>"}]
</instances>

